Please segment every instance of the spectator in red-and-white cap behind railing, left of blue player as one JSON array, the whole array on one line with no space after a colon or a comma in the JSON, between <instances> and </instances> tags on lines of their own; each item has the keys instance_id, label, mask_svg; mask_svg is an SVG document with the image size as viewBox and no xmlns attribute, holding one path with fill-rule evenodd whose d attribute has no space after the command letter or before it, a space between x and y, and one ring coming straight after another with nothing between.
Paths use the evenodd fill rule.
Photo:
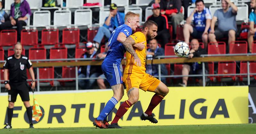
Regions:
<instances>
[{"instance_id":1,"label":"spectator in red-and-white cap behind railing, left of blue player","mask_svg":"<svg viewBox=\"0 0 256 134\"><path fill-rule=\"evenodd\" d=\"M95 51L94 43L87 42L86 43L86 52L81 56L81 58L96 58L99 54ZM103 57L103 56L102 56ZM80 66L78 69L78 78L89 78L89 77L99 77L103 74L101 70L101 66ZM95 79L87 79L87 80L78 80L78 86L82 89L91 89Z\"/></svg>"}]
</instances>

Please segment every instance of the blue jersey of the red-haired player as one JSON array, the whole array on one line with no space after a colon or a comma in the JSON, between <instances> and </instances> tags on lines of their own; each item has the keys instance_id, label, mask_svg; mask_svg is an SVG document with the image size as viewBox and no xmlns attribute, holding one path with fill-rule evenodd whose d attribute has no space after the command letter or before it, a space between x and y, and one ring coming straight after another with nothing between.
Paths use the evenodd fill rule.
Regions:
<instances>
[{"instance_id":1,"label":"blue jersey of the red-haired player","mask_svg":"<svg viewBox=\"0 0 256 134\"><path fill-rule=\"evenodd\" d=\"M126 24L118 26L112 33L108 40L108 53L103 62L121 64L124 58L125 48L122 43L117 41L117 36L120 32L126 35L126 38L132 34L132 29Z\"/></svg>"}]
</instances>

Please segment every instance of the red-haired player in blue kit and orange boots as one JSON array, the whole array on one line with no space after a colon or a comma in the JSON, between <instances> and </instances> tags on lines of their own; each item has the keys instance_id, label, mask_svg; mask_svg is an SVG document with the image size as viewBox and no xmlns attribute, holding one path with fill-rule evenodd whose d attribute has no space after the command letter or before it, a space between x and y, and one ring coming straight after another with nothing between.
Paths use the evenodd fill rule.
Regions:
<instances>
[{"instance_id":1,"label":"red-haired player in blue kit and orange boots","mask_svg":"<svg viewBox=\"0 0 256 134\"><path fill-rule=\"evenodd\" d=\"M109 123L107 121L108 114L114 109L116 104L122 99L124 95L124 86L122 73L120 71L121 60L124 58L124 53L127 51L134 56L134 62L137 66L141 66L141 61L135 53L132 46L123 46L125 39L135 31L139 25L139 14L128 12L124 17L125 23L118 26L111 34L108 40L107 56L102 62L101 68L107 78L114 95L109 99L100 115L94 120L93 125L99 128L107 128ZM134 47L142 50L145 46L142 43L135 44Z\"/></svg>"}]
</instances>

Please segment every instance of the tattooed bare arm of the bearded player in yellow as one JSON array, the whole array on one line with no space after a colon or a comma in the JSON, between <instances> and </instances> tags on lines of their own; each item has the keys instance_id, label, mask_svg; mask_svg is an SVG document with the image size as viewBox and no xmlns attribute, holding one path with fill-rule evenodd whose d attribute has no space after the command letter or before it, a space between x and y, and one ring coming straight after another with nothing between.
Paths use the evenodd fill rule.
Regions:
<instances>
[{"instance_id":1,"label":"tattooed bare arm of the bearded player in yellow","mask_svg":"<svg viewBox=\"0 0 256 134\"><path fill-rule=\"evenodd\" d=\"M123 45L126 49L127 52L131 53L132 56L134 57L134 63L137 63L137 66L141 66L141 61L140 61L140 58L138 57L137 53L135 53L134 49L132 48L132 45L135 44L135 40L132 39L132 37L128 37Z\"/></svg>"}]
</instances>

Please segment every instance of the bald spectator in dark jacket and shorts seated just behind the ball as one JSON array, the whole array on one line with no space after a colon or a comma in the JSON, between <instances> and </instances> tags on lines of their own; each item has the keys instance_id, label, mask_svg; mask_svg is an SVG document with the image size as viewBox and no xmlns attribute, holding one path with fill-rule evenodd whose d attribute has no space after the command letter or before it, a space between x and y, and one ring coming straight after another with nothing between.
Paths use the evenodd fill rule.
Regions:
<instances>
[{"instance_id":1,"label":"bald spectator in dark jacket and shorts seated just behind the ball","mask_svg":"<svg viewBox=\"0 0 256 134\"><path fill-rule=\"evenodd\" d=\"M199 46L199 42L197 39L191 40L191 50L189 51L188 58L192 59L194 57L200 57L201 54L207 54L205 49L202 49ZM182 68L182 75L190 74L203 74L203 66L201 62L194 63L185 63ZM196 77L199 79L199 85L203 86L202 76ZM188 77L182 77L182 84L179 83L180 86L186 87L188 83Z\"/></svg>"}]
</instances>

